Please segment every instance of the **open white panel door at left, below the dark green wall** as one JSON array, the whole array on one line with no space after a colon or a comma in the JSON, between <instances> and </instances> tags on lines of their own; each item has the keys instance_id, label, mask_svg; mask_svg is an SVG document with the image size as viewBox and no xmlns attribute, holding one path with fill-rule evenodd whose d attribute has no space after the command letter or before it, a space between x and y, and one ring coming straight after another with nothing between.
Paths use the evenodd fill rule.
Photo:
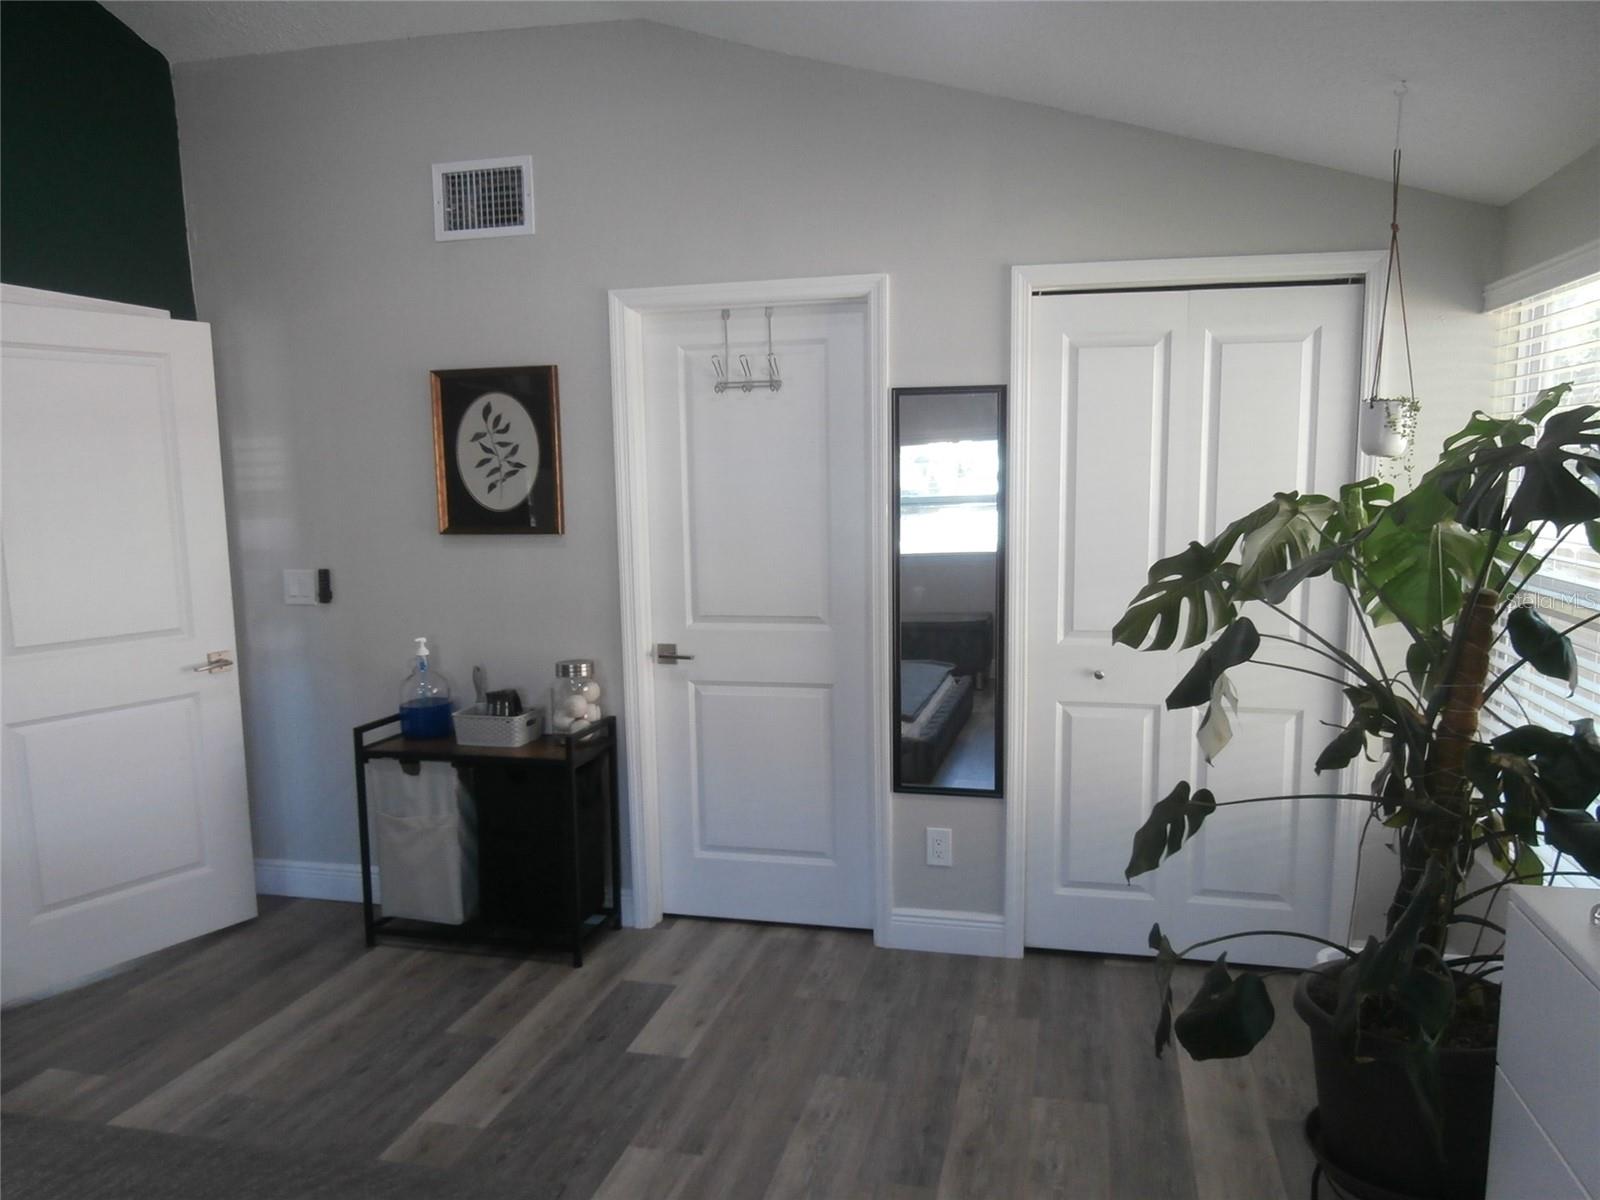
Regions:
<instances>
[{"instance_id":1,"label":"open white panel door at left, below the dark green wall","mask_svg":"<svg viewBox=\"0 0 1600 1200\"><path fill-rule=\"evenodd\" d=\"M6 1000L256 912L210 328L0 306Z\"/></svg>"}]
</instances>

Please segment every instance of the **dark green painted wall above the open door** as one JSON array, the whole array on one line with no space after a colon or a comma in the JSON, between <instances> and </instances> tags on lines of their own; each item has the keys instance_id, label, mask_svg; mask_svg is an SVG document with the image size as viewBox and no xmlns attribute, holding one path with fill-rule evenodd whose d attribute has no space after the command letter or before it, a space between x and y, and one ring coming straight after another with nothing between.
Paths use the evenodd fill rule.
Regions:
<instances>
[{"instance_id":1,"label":"dark green painted wall above the open door","mask_svg":"<svg viewBox=\"0 0 1600 1200\"><path fill-rule=\"evenodd\" d=\"M0 3L0 280L195 315L173 72L96 3Z\"/></svg>"}]
</instances>

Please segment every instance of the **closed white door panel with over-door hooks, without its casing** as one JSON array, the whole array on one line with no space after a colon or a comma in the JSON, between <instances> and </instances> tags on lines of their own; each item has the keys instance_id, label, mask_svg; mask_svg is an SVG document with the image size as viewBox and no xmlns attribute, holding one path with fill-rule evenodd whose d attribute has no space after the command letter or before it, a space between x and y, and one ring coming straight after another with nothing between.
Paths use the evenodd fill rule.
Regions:
<instances>
[{"instance_id":1,"label":"closed white door panel with over-door hooks, without its casing","mask_svg":"<svg viewBox=\"0 0 1600 1200\"><path fill-rule=\"evenodd\" d=\"M715 392L720 314L645 322L667 912L872 923L866 309L781 307L782 390ZM765 376L766 323L730 342Z\"/></svg>"}]
</instances>

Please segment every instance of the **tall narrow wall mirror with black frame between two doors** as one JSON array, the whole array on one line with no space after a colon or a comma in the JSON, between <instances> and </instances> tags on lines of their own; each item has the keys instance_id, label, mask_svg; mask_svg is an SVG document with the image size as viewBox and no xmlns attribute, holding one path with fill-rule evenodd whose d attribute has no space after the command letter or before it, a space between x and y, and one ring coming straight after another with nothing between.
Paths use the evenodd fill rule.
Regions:
<instances>
[{"instance_id":1,"label":"tall narrow wall mirror with black frame between two doors","mask_svg":"<svg viewBox=\"0 0 1600 1200\"><path fill-rule=\"evenodd\" d=\"M896 387L894 790L998 795L1005 387Z\"/></svg>"}]
</instances>

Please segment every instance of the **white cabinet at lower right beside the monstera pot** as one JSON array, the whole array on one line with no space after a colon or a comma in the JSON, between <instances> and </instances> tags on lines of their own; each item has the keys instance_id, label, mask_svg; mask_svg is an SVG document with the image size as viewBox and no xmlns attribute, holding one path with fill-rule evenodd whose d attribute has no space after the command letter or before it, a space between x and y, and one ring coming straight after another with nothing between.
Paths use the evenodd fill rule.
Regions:
<instances>
[{"instance_id":1,"label":"white cabinet at lower right beside the monstera pot","mask_svg":"<svg viewBox=\"0 0 1600 1200\"><path fill-rule=\"evenodd\" d=\"M1595 888L1512 888L1488 1200L1600 1200Z\"/></svg>"}]
</instances>

